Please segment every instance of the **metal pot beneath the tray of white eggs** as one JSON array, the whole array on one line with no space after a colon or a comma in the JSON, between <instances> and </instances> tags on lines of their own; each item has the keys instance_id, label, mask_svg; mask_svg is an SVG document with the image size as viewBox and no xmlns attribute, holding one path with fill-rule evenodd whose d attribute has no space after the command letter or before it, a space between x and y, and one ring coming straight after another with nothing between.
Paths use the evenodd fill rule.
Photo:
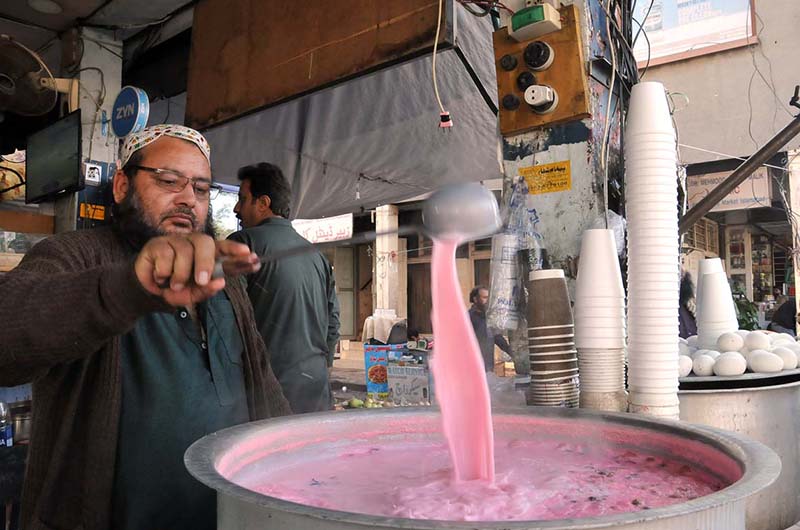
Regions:
<instances>
[{"instance_id":1,"label":"metal pot beneath the tray of white eggs","mask_svg":"<svg viewBox=\"0 0 800 530\"><path fill-rule=\"evenodd\" d=\"M747 503L748 530L783 530L800 520L800 382L682 390L681 419L757 440L781 459L778 480Z\"/></svg>"}]
</instances>

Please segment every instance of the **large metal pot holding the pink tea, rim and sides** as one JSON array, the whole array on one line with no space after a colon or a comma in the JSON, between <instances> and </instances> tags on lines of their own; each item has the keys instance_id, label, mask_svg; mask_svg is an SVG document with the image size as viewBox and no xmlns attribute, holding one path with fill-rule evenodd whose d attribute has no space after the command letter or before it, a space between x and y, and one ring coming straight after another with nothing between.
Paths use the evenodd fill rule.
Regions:
<instances>
[{"instance_id":1,"label":"large metal pot holding the pink tea, rim and sides","mask_svg":"<svg viewBox=\"0 0 800 530\"><path fill-rule=\"evenodd\" d=\"M380 442L396 440L398 436L410 440L441 439L440 421L438 411L430 408L398 408L254 422L199 440L186 452L185 463L195 478L217 491L220 530L744 530L746 498L772 483L780 472L780 461L770 449L716 429L633 414L528 407L496 411L495 436L503 439L547 435L643 448L703 466L734 483L705 497L648 511L558 521L462 523L385 518L304 506L261 495L227 478L255 463L269 466L271 457L299 447L346 444L348 440L365 438Z\"/></svg>"}]
</instances>

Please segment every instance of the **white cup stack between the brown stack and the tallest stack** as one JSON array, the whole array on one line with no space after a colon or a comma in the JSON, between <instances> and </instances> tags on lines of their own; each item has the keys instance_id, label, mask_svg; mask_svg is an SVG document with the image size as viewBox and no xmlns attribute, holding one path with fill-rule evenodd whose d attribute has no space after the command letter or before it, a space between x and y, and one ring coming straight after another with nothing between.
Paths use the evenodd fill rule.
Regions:
<instances>
[{"instance_id":1,"label":"white cup stack between the brown stack and the tallest stack","mask_svg":"<svg viewBox=\"0 0 800 530\"><path fill-rule=\"evenodd\" d=\"M575 288L575 345L581 407L625 411L625 290L612 230L583 233Z\"/></svg>"}]
</instances>

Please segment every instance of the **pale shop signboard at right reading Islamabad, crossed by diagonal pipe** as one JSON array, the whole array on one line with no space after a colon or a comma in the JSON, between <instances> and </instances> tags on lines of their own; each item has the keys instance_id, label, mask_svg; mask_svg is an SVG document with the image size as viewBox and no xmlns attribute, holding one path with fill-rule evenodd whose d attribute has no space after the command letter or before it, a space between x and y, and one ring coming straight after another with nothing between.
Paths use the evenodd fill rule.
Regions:
<instances>
[{"instance_id":1,"label":"pale shop signboard at right reading Islamabad, crossed by diagonal pipe","mask_svg":"<svg viewBox=\"0 0 800 530\"><path fill-rule=\"evenodd\" d=\"M731 175L730 171L692 175L686 178L689 208L700 202L717 185ZM760 167L715 205L712 212L767 208L772 205L772 187L767 168Z\"/></svg>"}]
</instances>

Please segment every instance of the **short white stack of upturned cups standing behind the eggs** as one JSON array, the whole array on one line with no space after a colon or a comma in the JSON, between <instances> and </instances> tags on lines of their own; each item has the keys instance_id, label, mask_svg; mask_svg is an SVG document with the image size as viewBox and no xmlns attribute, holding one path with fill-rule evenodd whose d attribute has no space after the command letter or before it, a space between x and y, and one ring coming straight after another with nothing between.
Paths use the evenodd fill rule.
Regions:
<instances>
[{"instance_id":1,"label":"short white stack of upturned cups standing behind the eggs","mask_svg":"<svg viewBox=\"0 0 800 530\"><path fill-rule=\"evenodd\" d=\"M695 301L697 344L700 348L715 350L720 335L739 329L728 277L719 258L700 262Z\"/></svg>"}]
</instances>

